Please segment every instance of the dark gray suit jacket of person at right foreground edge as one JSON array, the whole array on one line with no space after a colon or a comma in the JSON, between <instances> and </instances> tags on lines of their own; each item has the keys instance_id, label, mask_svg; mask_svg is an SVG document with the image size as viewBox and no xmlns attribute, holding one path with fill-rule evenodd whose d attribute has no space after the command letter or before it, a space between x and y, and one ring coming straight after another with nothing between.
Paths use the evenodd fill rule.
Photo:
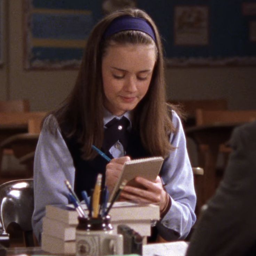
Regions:
<instances>
[{"instance_id":1,"label":"dark gray suit jacket of person at right foreground edge","mask_svg":"<svg viewBox=\"0 0 256 256\"><path fill-rule=\"evenodd\" d=\"M186 256L256 255L256 122L235 128L223 181L192 234Z\"/></svg>"}]
</instances>

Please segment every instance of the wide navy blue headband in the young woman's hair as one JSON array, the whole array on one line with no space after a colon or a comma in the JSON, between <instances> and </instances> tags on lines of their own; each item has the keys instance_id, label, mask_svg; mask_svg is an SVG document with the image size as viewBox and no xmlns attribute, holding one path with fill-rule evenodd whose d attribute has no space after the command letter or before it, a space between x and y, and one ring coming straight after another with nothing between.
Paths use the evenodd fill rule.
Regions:
<instances>
[{"instance_id":1,"label":"wide navy blue headband in the young woman's hair","mask_svg":"<svg viewBox=\"0 0 256 256\"><path fill-rule=\"evenodd\" d=\"M119 18L115 18L105 30L103 38L107 38L110 35L124 30L142 31L150 35L150 37L152 37L152 39L156 42L155 33L152 26L145 19L131 16L121 16Z\"/></svg>"}]
</instances>

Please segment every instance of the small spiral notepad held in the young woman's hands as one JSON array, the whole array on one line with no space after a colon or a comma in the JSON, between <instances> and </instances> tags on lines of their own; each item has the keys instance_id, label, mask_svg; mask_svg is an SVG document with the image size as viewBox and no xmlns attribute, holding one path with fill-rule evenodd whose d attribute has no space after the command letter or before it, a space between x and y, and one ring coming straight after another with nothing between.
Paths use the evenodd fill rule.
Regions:
<instances>
[{"instance_id":1,"label":"small spiral notepad held in the young woman's hands","mask_svg":"<svg viewBox=\"0 0 256 256\"><path fill-rule=\"evenodd\" d=\"M124 180L127 181L127 185L137 187L139 185L134 181L135 177L137 176L149 179L150 181L155 181L160 172L162 164L162 157L140 158L125 162L118 181L110 195L109 201L113 199L115 193L118 191Z\"/></svg>"}]
</instances>

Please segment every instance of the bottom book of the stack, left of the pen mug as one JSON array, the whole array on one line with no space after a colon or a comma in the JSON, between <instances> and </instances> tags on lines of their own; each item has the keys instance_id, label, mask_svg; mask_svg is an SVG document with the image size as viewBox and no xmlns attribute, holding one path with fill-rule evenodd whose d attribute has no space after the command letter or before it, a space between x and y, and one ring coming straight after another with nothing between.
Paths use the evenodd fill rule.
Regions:
<instances>
[{"instance_id":1,"label":"bottom book of the stack, left of the pen mug","mask_svg":"<svg viewBox=\"0 0 256 256\"><path fill-rule=\"evenodd\" d=\"M64 241L42 232L42 250L52 254L75 254L75 240Z\"/></svg>"}]
</instances>

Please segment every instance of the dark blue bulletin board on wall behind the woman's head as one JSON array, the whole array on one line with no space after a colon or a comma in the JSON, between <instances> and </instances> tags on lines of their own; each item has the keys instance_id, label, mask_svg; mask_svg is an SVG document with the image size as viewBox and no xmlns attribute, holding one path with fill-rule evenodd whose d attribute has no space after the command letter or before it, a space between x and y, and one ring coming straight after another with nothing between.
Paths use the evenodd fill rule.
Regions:
<instances>
[{"instance_id":1,"label":"dark blue bulletin board on wall behind the woman's head","mask_svg":"<svg viewBox=\"0 0 256 256\"><path fill-rule=\"evenodd\" d=\"M24 0L25 69L78 68L103 1ZM256 65L256 0L133 2L157 24L168 66Z\"/></svg>"}]
</instances>

